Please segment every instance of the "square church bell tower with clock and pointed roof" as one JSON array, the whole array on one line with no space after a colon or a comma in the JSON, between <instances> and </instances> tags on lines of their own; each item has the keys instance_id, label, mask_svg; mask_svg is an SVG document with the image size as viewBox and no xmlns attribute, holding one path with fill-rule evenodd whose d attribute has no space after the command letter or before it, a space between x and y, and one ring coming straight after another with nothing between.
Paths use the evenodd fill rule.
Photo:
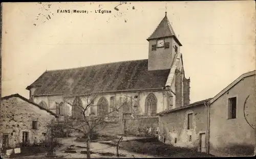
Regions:
<instances>
[{"instance_id":1,"label":"square church bell tower with clock and pointed roof","mask_svg":"<svg viewBox=\"0 0 256 159\"><path fill-rule=\"evenodd\" d=\"M167 12L153 34L146 39L148 41L149 71L170 69L175 55L182 46L166 14Z\"/></svg>"}]
</instances>

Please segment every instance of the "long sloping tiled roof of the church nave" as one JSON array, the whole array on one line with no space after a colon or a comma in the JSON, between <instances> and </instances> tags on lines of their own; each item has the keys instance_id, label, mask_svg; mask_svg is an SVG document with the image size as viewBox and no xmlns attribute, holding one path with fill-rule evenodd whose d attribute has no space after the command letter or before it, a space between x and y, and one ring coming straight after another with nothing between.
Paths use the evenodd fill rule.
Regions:
<instances>
[{"instance_id":1,"label":"long sloping tiled roof of the church nave","mask_svg":"<svg viewBox=\"0 0 256 159\"><path fill-rule=\"evenodd\" d=\"M34 95L81 95L125 90L161 89L170 69L147 70L147 59L44 72L26 89Z\"/></svg>"}]
</instances>

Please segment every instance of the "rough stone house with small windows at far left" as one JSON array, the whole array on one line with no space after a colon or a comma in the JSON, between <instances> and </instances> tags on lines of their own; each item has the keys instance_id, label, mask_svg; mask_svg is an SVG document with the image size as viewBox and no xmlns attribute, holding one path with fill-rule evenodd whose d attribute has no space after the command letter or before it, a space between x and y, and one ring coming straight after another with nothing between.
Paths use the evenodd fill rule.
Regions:
<instances>
[{"instance_id":1,"label":"rough stone house with small windows at far left","mask_svg":"<svg viewBox=\"0 0 256 159\"><path fill-rule=\"evenodd\" d=\"M13 94L1 100L0 140L3 147L38 143L46 139L47 124L57 115L29 99Z\"/></svg>"}]
</instances>

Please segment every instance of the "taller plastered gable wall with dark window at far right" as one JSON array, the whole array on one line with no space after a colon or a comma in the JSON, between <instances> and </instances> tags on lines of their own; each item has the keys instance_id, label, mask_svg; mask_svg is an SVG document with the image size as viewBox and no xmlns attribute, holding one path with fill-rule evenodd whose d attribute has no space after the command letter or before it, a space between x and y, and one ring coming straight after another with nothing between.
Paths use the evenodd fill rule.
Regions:
<instances>
[{"instance_id":1,"label":"taller plastered gable wall with dark window at far right","mask_svg":"<svg viewBox=\"0 0 256 159\"><path fill-rule=\"evenodd\" d=\"M210 100L211 154L255 155L255 95L255 71L251 71Z\"/></svg>"}]
</instances>

